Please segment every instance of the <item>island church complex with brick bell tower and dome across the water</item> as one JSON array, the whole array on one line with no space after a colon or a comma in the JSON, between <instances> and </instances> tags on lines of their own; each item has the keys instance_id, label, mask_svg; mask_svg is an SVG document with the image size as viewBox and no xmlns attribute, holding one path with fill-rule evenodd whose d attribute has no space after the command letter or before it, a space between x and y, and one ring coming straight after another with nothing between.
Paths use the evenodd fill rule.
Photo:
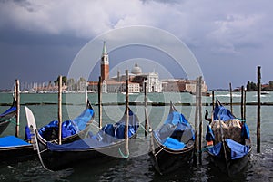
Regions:
<instances>
[{"instance_id":1,"label":"island church complex with brick bell tower and dome across the water","mask_svg":"<svg viewBox=\"0 0 273 182\"><path fill-rule=\"evenodd\" d=\"M103 44L103 51L100 62L100 72L102 79L102 92L125 92L126 74L120 74L117 71L116 76L109 78L109 56L106 52L106 42ZM147 92L195 92L196 81L185 79L167 79L160 81L157 72L143 73L141 67L135 63L129 77L129 92L143 92L144 82L147 81ZM97 91L97 81L88 81L88 91ZM207 92L207 85L202 81L202 92Z\"/></svg>"}]
</instances>

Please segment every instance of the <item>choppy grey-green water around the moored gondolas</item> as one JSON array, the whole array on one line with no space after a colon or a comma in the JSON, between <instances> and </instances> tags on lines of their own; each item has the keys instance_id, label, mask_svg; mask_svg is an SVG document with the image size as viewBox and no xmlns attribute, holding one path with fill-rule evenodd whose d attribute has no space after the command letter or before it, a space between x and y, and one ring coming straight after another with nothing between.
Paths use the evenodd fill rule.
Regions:
<instances>
[{"instance_id":1,"label":"choppy grey-green water around the moored gondolas","mask_svg":"<svg viewBox=\"0 0 273 182\"><path fill-rule=\"evenodd\" d=\"M229 93L224 91L216 92L216 97L221 102L229 102ZM85 94L66 94L63 96L63 120L76 117L85 108ZM97 113L97 95L88 94L91 103ZM143 94L129 96L130 102L142 102ZM148 94L148 101L175 103L194 103L195 97L188 93L153 93ZM104 94L103 102L115 103L125 101L123 94ZM256 92L247 93L247 102L256 102ZM262 102L273 102L273 92L262 95ZM0 93L0 103L11 103L10 93ZM21 94L21 104L26 104L33 110L38 126L43 126L51 120L57 119L57 94ZM205 103L210 103L211 98L203 98ZM233 102L240 102L240 93L233 93ZM130 106L137 114L139 120L144 123L143 105ZM227 106L229 107L229 106ZM0 112L8 106L0 106ZM107 105L103 107L103 122L119 120L124 112L124 105ZM194 122L194 106L181 106L177 104L177 110L182 111L186 118ZM211 110L210 106L203 106L204 110ZM234 114L240 117L240 106L233 106ZM165 120L168 113L168 106L148 106L149 120L152 128L157 128L160 122ZM247 168L238 173L236 177L227 177L217 168L209 164L206 153L203 153L203 163L197 167L183 168L175 173L161 176L152 167L147 156L147 140L144 139L143 129L139 133L139 154L134 158L117 158L110 161L101 161L100 164L89 161L85 164L78 164L76 168L48 172L41 167L38 160L21 162L18 164L0 164L0 181L273 181L273 127L272 113L273 106L261 107L261 153L256 152L256 126L257 106L247 105L247 122L250 129L253 150ZM97 120L97 115L96 115ZM25 110L21 107L20 112L21 136L24 136ZM204 121L204 132L207 126ZM11 124L2 134L13 135L15 126ZM142 145L141 145L141 141ZM132 152L133 153L133 152ZM1 159L1 158L0 158Z\"/></svg>"}]
</instances>

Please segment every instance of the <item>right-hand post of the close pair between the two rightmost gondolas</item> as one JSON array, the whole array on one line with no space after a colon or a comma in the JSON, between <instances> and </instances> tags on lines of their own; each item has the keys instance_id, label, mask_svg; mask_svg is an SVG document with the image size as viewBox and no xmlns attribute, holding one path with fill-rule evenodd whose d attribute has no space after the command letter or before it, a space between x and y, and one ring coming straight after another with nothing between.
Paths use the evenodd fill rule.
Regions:
<instances>
[{"instance_id":1,"label":"right-hand post of the close pair between the two rightmost gondolas","mask_svg":"<svg viewBox=\"0 0 273 182\"><path fill-rule=\"evenodd\" d=\"M199 163L202 164L202 140L203 140L203 121L202 121L202 77L198 79L198 111L199 111Z\"/></svg>"}]
</instances>

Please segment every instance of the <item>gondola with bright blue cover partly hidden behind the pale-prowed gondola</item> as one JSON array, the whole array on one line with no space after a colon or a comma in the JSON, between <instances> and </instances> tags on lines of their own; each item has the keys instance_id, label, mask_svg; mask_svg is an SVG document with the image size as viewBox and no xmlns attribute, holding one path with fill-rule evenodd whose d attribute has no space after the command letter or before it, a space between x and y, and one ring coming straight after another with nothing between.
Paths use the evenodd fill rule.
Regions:
<instances>
[{"instance_id":1,"label":"gondola with bright blue cover partly hidden behind the pale-prowed gondola","mask_svg":"<svg viewBox=\"0 0 273 182\"><path fill-rule=\"evenodd\" d=\"M85 125L90 123L93 120L93 117L94 110L91 104L88 102L86 105L86 110L84 110L78 117L76 117L76 119L64 122L63 130L66 130L66 133L69 133L70 135L68 136L68 134L66 134L62 141L66 143L80 139L82 135L85 134ZM53 123L54 122L51 122L51 125L45 126L40 131L40 133L46 131L48 136L49 133L51 133L51 136L55 137L55 135L52 135L54 131L49 131L51 129L56 130L54 129ZM71 131L68 132L68 128L71 129L73 127L71 125L70 127L66 127L66 125L68 125L67 123L70 123L71 125L74 123L74 130L77 129L77 131L75 133L72 133ZM45 133L43 134L45 136ZM31 136L29 133L29 125L25 127L25 139L20 139L15 136L5 136L0 138L0 163L15 163L35 158L36 151L34 150L30 138ZM51 140L54 140L54 138L51 138ZM43 141L46 143L45 139L43 139Z\"/></svg>"}]
</instances>

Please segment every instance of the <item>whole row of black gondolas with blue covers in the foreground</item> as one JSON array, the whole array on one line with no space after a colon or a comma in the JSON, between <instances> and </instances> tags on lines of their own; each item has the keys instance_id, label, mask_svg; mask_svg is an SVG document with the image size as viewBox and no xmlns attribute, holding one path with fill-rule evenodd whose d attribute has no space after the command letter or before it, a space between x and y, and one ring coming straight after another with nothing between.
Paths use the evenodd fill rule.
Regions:
<instances>
[{"instance_id":1,"label":"whole row of black gondolas with blue covers in the foreground","mask_svg":"<svg viewBox=\"0 0 273 182\"><path fill-rule=\"evenodd\" d=\"M15 117L15 105L0 115L0 129L6 120ZM91 124L94 110L89 103L76 119L62 124L61 144L58 144L57 121L51 121L41 129L36 128L32 111L25 106L27 118L26 140L14 136L0 138L0 158L5 162L39 157L44 168L58 170L73 168L79 162L99 158L120 158L126 153L126 120L129 142L137 137L139 120L128 110L121 120L106 124L93 133ZM195 130L185 116L170 103L165 122L150 133L149 156L160 174L179 167L189 167L196 155ZM237 173L248 162L251 143L248 125L237 119L229 110L216 103L212 118L207 125L207 153L212 161L228 175ZM35 151L37 150L37 151ZM38 155L36 155L38 154Z\"/></svg>"}]
</instances>

